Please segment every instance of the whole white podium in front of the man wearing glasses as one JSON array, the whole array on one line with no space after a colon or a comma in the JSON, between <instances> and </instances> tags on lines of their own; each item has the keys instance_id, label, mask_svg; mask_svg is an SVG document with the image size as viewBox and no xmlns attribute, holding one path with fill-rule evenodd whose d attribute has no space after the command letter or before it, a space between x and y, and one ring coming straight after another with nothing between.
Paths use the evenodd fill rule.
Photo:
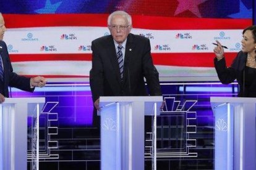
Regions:
<instances>
[{"instance_id":1,"label":"whole white podium in front of the man wearing glasses","mask_svg":"<svg viewBox=\"0 0 256 170\"><path fill-rule=\"evenodd\" d=\"M101 169L144 169L144 116L154 116L152 169L156 168L156 115L162 96L100 97Z\"/></svg>"}]
</instances>

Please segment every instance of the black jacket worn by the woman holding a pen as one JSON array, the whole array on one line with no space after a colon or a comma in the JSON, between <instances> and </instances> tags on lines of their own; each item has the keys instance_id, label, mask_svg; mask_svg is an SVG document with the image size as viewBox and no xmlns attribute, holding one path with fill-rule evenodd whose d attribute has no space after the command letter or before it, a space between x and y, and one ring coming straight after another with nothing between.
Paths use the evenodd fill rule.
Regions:
<instances>
[{"instance_id":1,"label":"black jacket worn by the woman holding a pen","mask_svg":"<svg viewBox=\"0 0 256 170\"><path fill-rule=\"evenodd\" d=\"M245 64L247 61L247 53L242 51L238 52L236 58L233 60L231 67L226 67L226 60L223 58L214 59L215 69L221 83L229 84L235 79L239 84L239 97L256 97L256 78L250 87L244 87L244 79L246 80L246 73L244 73ZM244 76L245 75L245 76Z\"/></svg>"}]
</instances>

